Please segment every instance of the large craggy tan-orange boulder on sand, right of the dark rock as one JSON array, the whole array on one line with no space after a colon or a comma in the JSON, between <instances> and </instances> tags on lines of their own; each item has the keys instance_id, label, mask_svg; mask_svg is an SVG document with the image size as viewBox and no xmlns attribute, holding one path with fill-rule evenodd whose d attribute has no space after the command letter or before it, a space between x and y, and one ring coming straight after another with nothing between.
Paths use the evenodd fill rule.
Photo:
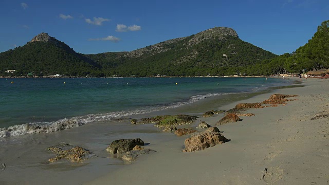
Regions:
<instances>
[{"instance_id":1,"label":"large craggy tan-orange boulder on sand, right of the dark rock","mask_svg":"<svg viewBox=\"0 0 329 185\"><path fill-rule=\"evenodd\" d=\"M206 131L193 134L185 140L185 149L182 152L194 152L207 149L216 144L229 141L218 130L217 127L210 127Z\"/></svg>"}]
</instances>

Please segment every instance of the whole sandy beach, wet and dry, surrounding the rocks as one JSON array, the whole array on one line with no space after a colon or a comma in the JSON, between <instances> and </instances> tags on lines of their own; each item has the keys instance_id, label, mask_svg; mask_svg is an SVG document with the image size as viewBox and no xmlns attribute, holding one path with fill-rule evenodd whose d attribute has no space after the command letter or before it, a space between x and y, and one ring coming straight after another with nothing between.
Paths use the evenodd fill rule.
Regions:
<instances>
[{"instance_id":1,"label":"whole sandy beach, wet and dry, surrounding the rocks","mask_svg":"<svg viewBox=\"0 0 329 185\"><path fill-rule=\"evenodd\" d=\"M0 184L328 184L329 84L326 79L308 78L295 86L230 104L216 106L205 99L140 115L183 112L200 116L210 109L228 110L237 103L262 102L273 94L298 95L289 98L295 100L286 105L249 109L246 113L255 116L217 126L230 141L198 152L181 152L189 135L162 133L152 124L132 125L130 119L3 138L0 163L6 168L0 171ZM178 127L195 128L200 121L215 125L223 116L200 116L195 123ZM134 138L141 138L145 148L157 152L140 155L132 163L105 152L114 140ZM54 155L45 152L46 147L62 142L82 146L97 157L83 163L49 164L47 160ZM33 147L29 147L31 143Z\"/></svg>"}]
</instances>

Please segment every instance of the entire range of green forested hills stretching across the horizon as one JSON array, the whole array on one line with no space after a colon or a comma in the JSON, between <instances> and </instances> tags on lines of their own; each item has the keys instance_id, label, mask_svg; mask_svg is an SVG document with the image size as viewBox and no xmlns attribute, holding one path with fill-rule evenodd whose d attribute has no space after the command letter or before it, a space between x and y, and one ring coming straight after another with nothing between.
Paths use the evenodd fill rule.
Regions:
<instances>
[{"instance_id":1,"label":"entire range of green forested hills stretching across the horizon","mask_svg":"<svg viewBox=\"0 0 329 185\"><path fill-rule=\"evenodd\" d=\"M76 53L41 33L22 47L0 53L0 76L224 76L299 73L329 67L329 21L307 44L277 56L239 39L226 27L146 46L130 52ZM16 70L8 73L7 70Z\"/></svg>"}]
</instances>

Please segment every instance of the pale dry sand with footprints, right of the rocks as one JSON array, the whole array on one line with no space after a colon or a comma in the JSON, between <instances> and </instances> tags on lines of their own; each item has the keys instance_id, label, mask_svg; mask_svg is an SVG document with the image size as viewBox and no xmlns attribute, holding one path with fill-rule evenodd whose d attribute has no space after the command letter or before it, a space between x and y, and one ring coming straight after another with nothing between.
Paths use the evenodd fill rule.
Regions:
<instances>
[{"instance_id":1,"label":"pale dry sand with footprints, right of the rocks","mask_svg":"<svg viewBox=\"0 0 329 185\"><path fill-rule=\"evenodd\" d=\"M241 101L262 102L275 93L298 95L285 106L249 109L255 116L218 126L231 139L227 143L182 153L188 136L147 137L150 144L145 147L156 153L86 184L328 184L329 117L312 118L329 114L329 83L309 78L303 85ZM198 122L214 125L222 117Z\"/></svg>"}]
</instances>

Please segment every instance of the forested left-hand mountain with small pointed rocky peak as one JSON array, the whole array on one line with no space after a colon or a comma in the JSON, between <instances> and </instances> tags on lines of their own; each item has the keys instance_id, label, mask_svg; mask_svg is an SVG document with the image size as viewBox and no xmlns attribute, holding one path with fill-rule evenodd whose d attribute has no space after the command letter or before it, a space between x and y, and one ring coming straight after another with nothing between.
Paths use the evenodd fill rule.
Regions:
<instances>
[{"instance_id":1,"label":"forested left-hand mountain with small pointed rocky peak","mask_svg":"<svg viewBox=\"0 0 329 185\"><path fill-rule=\"evenodd\" d=\"M0 70L0 76L58 73L81 77L90 72L100 73L100 66L47 33L40 33L26 45L0 53ZM10 74L6 70L16 71Z\"/></svg>"}]
</instances>

